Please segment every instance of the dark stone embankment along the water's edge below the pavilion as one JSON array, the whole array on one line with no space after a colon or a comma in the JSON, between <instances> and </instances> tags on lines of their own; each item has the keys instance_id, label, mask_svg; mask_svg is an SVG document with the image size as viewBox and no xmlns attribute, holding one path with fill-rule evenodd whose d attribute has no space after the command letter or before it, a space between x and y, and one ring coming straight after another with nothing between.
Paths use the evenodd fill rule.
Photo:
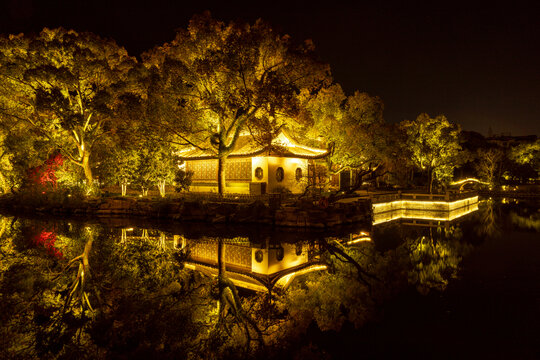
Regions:
<instances>
[{"instance_id":1,"label":"dark stone embankment along the water's edge below the pavilion","mask_svg":"<svg viewBox=\"0 0 540 360\"><path fill-rule=\"evenodd\" d=\"M371 222L372 219L371 201L369 199L331 204L308 200L297 200L283 204L266 204L262 201L217 202L186 199L101 198L79 202L76 205L66 203L37 208L18 204L9 206L9 210L55 215L142 216L176 221L268 224L306 228L328 228L342 224Z\"/></svg>"}]
</instances>

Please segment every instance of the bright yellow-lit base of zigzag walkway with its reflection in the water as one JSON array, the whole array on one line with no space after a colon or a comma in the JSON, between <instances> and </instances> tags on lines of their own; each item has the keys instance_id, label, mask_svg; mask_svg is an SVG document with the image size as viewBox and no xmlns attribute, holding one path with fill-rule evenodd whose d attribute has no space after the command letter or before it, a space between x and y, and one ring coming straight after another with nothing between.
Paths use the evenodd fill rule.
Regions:
<instances>
[{"instance_id":1,"label":"bright yellow-lit base of zigzag walkway with its reflection in the water","mask_svg":"<svg viewBox=\"0 0 540 360\"><path fill-rule=\"evenodd\" d=\"M413 225L452 221L478 210L478 196L456 201L395 200L373 204L373 225L409 219Z\"/></svg>"}]
</instances>

